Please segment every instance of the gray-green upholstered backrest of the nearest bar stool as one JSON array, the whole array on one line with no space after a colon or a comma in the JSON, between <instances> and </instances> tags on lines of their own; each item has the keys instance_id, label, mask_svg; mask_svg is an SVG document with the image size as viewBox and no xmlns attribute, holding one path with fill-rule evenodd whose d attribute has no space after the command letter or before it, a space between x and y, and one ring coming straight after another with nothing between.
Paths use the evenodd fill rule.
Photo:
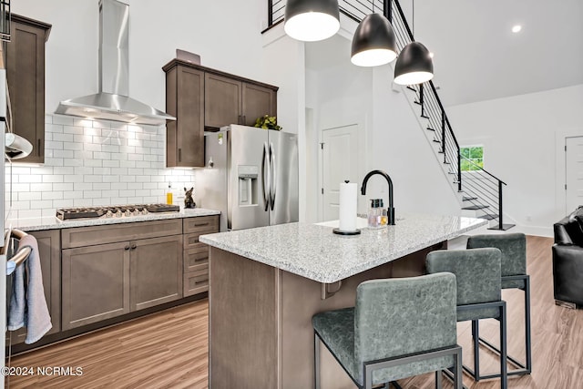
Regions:
<instances>
[{"instance_id":1,"label":"gray-green upholstered backrest of the nearest bar stool","mask_svg":"<svg viewBox=\"0 0 583 389\"><path fill-rule=\"evenodd\" d=\"M455 345L455 291L451 273L361 283L354 307L355 371L362 374L365 362ZM453 356L446 356L379 369L373 372L373 382L435 371L453 363Z\"/></svg>"}]
</instances>

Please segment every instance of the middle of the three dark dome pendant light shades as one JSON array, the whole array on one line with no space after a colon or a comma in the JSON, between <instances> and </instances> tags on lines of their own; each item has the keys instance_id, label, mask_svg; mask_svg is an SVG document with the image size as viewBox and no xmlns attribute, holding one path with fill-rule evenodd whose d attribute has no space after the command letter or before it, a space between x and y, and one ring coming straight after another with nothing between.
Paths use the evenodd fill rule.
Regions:
<instances>
[{"instance_id":1,"label":"middle of the three dark dome pendant light shades","mask_svg":"<svg viewBox=\"0 0 583 389\"><path fill-rule=\"evenodd\" d=\"M353 36L351 61L359 67L378 67L397 57L393 27L381 14L366 15Z\"/></svg>"}]
</instances>

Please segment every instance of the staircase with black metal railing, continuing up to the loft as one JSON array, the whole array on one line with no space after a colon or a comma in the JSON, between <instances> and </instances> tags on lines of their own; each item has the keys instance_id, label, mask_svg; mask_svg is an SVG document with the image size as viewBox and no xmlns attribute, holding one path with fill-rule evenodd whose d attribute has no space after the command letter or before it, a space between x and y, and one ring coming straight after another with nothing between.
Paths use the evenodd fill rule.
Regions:
<instances>
[{"instance_id":1,"label":"staircase with black metal railing, continuing up to the loft","mask_svg":"<svg viewBox=\"0 0 583 389\"><path fill-rule=\"evenodd\" d=\"M398 0L339 0L338 3L341 13L357 23L370 14L373 8L383 10L384 16L393 26L399 51L414 41ZM268 0L269 26L265 31L283 22L284 9L285 0ZM408 86L404 90L414 105L418 106L416 112L419 114L419 122L426 131L425 135L435 145L436 156L443 162L446 175L451 178L451 184L459 193L463 212L489 220L488 230L508 230L514 227L514 224L503 222L502 192L506 182L461 155L454 130L433 82ZM470 166L472 170L462 170L462 161L464 166Z\"/></svg>"}]
</instances>

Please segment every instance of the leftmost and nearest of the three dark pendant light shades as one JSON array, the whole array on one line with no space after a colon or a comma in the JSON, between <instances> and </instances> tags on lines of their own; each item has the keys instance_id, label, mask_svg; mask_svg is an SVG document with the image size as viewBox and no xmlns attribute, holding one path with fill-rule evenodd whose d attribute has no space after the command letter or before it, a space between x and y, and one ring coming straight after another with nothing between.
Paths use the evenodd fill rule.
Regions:
<instances>
[{"instance_id":1,"label":"leftmost and nearest of the three dark pendant light shades","mask_svg":"<svg viewBox=\"0 0 583 389\"><path fill-rule=\"evenodd\" d=\"M283 30L304 42L333 36L340 29L338 0L288 0Z\"/></svg>"}]
</instances>

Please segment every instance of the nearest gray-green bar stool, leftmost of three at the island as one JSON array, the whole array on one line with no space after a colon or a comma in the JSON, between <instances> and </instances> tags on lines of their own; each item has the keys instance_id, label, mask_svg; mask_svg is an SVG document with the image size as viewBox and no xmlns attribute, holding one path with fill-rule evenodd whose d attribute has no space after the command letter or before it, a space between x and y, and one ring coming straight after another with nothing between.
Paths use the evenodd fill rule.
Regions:
<instances>
[{"instance_id":1,"label":"nearest gray-green bar stool, leftmost of three at the island","mask_svg":"<svg viewBox=\"0 0 583 389\"><path fill-rule=\"evenodd\" d=\"M314 315L316 389L320 342L359 388L428 372L436 372L440 388L441 371L454 368L455 388L461 389L455 294L451 273L373 280L358 285L354 308Z\"/></svg>"}]
</instances>

